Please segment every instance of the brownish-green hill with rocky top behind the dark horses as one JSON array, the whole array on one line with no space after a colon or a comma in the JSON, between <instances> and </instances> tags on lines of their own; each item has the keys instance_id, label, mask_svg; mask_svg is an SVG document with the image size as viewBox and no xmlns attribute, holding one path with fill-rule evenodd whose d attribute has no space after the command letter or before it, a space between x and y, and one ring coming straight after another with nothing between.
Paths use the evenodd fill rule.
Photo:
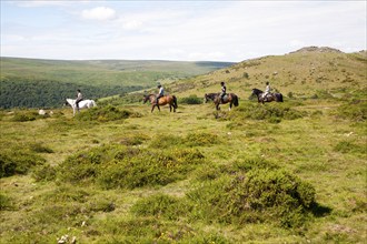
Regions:
<instances>
[{"instance_id":1,"label":"brownish-green hill with rocky top behind the dark horses","mask_svg":"<svg viewBox=\"0 0 367 244\"><path fill-rule=\"evenodd\" d=\"M367 93L367 52L344 53L331 48L308 47L285 55L250 59L209 74L175 82L170 91L181 96L228 92L248 99L265 82L291 98L363 98Z\"/></svg>"}]
</instances>

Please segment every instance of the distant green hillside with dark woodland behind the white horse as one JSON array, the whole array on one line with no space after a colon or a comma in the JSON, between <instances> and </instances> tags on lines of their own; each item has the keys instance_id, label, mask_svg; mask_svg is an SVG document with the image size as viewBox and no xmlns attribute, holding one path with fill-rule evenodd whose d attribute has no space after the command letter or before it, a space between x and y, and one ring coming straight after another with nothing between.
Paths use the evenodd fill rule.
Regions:
<instances>
[{"instance_id":1,"label":"distant green hillside with dark woodland behind the white horse","mask_svg":"<svg viewBox=\"0 0 367 244\"><path fill-rule=\"evenodd\" d=\"M89 99L125 94L208 73L231 62L1 58L0 108L59 106L81 89Z\"/></svg>"}]
</instances>

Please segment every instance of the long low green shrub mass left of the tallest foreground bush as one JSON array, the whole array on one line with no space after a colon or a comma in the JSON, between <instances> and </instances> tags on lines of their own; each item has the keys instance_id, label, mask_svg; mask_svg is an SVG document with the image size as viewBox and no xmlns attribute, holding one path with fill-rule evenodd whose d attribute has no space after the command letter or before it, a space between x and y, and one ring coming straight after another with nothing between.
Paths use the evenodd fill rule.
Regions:
<instances>
[{"instance_id":1,"label":"long low green shrub mass left of the tallest foreground bush","mask_svg":"<svg viewBox=\"0 0 367 244\"><path fill-rule=\"evenodd\" d=\"M194 149L138 150L121 145L95 148L68 157L59 179L72 183L96 183L103 189L135 189L166 185L186 177L204 155Z\"/></svg>"}]
</instances>

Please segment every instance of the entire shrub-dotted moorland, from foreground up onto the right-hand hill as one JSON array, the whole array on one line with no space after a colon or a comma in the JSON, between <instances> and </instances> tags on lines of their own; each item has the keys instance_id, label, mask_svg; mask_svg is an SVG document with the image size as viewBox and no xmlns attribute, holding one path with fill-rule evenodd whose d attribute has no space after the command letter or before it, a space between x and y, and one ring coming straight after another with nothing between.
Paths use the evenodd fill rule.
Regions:
<instances>
[{"instance_id":1,"label":"entire shrub-dotted moorland, from foreground up onto the right-hand hill","mask_svg":"<svg viewBox=\"0 0 367 244\"><path fill-rule=\"evenodd\" d=\"M248 99L262 75L284 103ZM1 241L365 243L366 77L364 53L297 52L172 83L176 113L2 110ZM220 80L231 111L201 103Z\"/></svg>"}]
</instances>

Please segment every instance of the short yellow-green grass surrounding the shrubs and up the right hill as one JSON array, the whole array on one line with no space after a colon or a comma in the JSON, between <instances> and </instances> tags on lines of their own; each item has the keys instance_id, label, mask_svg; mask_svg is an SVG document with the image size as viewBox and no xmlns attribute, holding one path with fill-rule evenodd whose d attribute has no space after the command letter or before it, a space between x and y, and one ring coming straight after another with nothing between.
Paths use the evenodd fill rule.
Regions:
<instances>
[{"instance_id":1,"label":"short yellow-green grass surrounding the shrubs and up the right hill","mask_svg":"<svg viewBox=\"0 0 367 244\"><path fill-rule=\"evenodd\" d=\"M337 60L340 62L333 71L330 63ZM261 65L249 65L251 62L260 62ZM317 64L313 74L310 63ZM184 236L205 237L215 233L230 243L364 243L367 237L364 225L367 220L366 151L354 151L353 148L349 151L338 151L336 148L339 143L346 142L359 148L366 143L366 121L356 122L338 115L338 108L358 98L360 93L356 91L366 87L365 68L366 59L358 61L355 54L296 53L247 61L227 69L229 72L216 71L169 88L180 96L201 96L205 92L217 91L219 81L226 80L230 91L242 98L240 106L231 112L216 113L212 104L179 104L178 113L169 113L168 108L162 108L160 113L151 114L149 105L133 104L122 108L140 113L140 118L105 123L77 121L67 109L56 111L57 116L53 118L22 123L11 122L13 114L3 112L0 121L0 146L2 151L27 150L30 144L39 142L54 151L41 155L51 165L58 165L73 153L102 144L125 143L131 138L143 138L140 148L145 149L157 143L158 136L162 134L186 136L189 133L209 133L225 141L197 146L210 165L231 165L246 157L261 157L278 163L310 182L316 189L317 201L331 212L316 217L302 231L287 231L271 224L226 225L187 222L188 220L158 220L158 230L157 225L150 226L151 231L156 232L156 241L165 243L165 234L173 232L173 226L186 225L191 231L188 234L186 228L181 228ZM275 71L278 74L272 75ZM244 72L249 74L249 79L242 78ZM321 82L316 82L315 79L321 74ZM256 103L245 100L249 96L251 88L264 87L266 75L269 75L268 80L272 87L282 93L294 92L296 99L287 99L286 104L290 104L297 111L306 111L307 115L297 120L281 120L280 123L236 119L241 118L241 111ZM346 77L353 81L349 79L345 82ZM185 90L188 82L194 83L194 89ZM181 92L178 88L181 88ZM317 93L318 90L327 90L336 98L304 99ZM340 95L347 99L339 100ZM277 108L279 104L271 103L266 106ZM227 106L222 110L225 108ZM215 119L215 115L221 119ZM226 119L230 116L235 119ZM1 190L12 200L12 210L1 213L1 237L7 243L14 240L53 242L56 237L69 234L77 236L81 243L113 242L115 238L123 236L122 223L135 218L129 211L137 201L155 193L182 196L195 187L195 175L194 173L188 180L166 186L131 191L103 191L93 185L71 186L63 182L34 182L30 175L4 177L1 179ZM66 201L63 204L68 209L88 209L101 200L113 202L116 209L112 212L77 214L70 224L67 221L67 210L51 209L53 212L50 212L48 207L57 204L48 197L62 194L61 189L70 194L76 191L89 192L89 196L82 203L75 199ZM81 226L83 221L87 223L86 226ZM132 227L139 230L138 224ZM13 230L17 230L17 233ZM141 233L143 235L145 232L141 230ZM139 234L136 237L138 236ZM166 235L166 241L172 242L172 238Z\"/></svg>"}]
</instances>

